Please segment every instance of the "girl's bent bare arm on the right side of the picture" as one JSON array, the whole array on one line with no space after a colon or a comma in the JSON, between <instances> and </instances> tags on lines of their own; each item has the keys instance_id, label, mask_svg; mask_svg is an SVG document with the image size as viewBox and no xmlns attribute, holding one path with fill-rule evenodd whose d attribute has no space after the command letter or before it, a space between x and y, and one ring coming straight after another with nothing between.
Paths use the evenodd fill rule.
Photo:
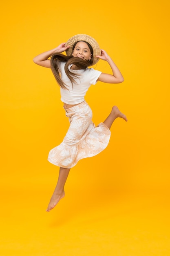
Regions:
<instances>
[{"instance_id":1,"label":"girl's bent bare arm on the right side of the picture","mask_svg":"<svg viewBox=\"0 0 170 256\"><path fill-rule=\"evenodd\" d=\"M118 69L116 64L113 62L113 60L110 58L110 56L108 56L108 54L104 50L101 50L101 56L96 56L96 58L100 58L104 61L107 61L112 69L112 72L113 72L112 75L102 73L99 76L99 78L97 79L97 81L101 81L104 83L122 83L124 81L124 78L123 78L120 70Z\"/></svg>"}]
</instances>

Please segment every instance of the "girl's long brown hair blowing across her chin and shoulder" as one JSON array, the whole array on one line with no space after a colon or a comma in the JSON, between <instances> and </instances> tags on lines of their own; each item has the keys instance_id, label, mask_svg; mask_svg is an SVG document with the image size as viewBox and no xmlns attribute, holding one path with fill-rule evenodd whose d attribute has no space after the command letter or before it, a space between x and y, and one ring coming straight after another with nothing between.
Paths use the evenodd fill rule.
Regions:
<instances>
[{"instance_id":1,"label":"girl's long brown hair blowing across her chin and shoulder","mask_svg":"<svg viewBox=\"0 0 170 256\"><path fill-rule=\"evenodd\" d=\"M79 41L77 41L73 45L73 50L78 42ZM83 41L83 42L85 42L85 41ZM68 69L68 67L71 64L74 64L79 69L85 70L88 66L91 66L93 64L93 48L91 47L91 45L89 43L87 43L87 42L85 42L85 43L88 45L88 47L91 51L91 54L92 54L90 61L86 61L84 59L73 57L73 56L66 56L61 53L55 53L51 56L51 70L53 72L55 79L57 80L57 83L60 85L61 88L68 90L68 88L66 87L66 84L61 79L60 70L58 68L58 64L60 61L63 61L66 63L64 69L65 69L66 75L68 76L68 78L70 79L70 81L72 83L72 86L73 86L73 83L76 83L75 78L77 78L79 76L79 74L75 74L75 73L71 72Z\"/></svg>"}]
</instances>

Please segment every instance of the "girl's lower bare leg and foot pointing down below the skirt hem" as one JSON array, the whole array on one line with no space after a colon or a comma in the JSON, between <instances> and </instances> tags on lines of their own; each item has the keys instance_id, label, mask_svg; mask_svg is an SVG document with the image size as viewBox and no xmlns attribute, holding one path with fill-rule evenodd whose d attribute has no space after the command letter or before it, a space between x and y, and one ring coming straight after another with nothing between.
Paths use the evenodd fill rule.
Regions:
<instances>
[{"instance_id":1,"label":"girl's lower bare leg and foot pointing down below the skirt hem","mask_svg":"<svg viewBox=\"0 0 170 256\"><path fill-rule=\"evenodd\" d=\"M58 176L57 186L55 187L54 193L51 197L49 205L46 211L51 211L55 205L60 201L60 199L64 198L64 185L66 183L70 168L62 168L60 167L60 172Z\"/></svg>"}]
</instances>

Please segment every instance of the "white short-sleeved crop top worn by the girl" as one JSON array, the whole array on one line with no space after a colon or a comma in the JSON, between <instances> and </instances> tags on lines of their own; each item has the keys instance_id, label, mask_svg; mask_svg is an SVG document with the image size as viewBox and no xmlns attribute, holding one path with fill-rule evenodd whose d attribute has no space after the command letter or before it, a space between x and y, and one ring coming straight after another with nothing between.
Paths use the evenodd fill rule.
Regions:
<instances>
[{"instance_id":1,"label":"white short-sleeved crop top worn by the girl","mask_svg":"<svg viewBox=\"0 0 170 256\"><path fill-rule=\"evenodd\" d=\"M84 101L84 96L86 95L88 88L92 84L95 85L97 83L97 79L102 72L88 67L85 70L71 70L71 67L69 67L71 72L79 74L78 78L73 77L76 83L73 84L72 88L71 81L65 73L64 66L65 62L61 61L59 67L61 79L67 85L68 90L60 87L61 101L70 105L81 103Z\"/></svg>"}]
</instances>

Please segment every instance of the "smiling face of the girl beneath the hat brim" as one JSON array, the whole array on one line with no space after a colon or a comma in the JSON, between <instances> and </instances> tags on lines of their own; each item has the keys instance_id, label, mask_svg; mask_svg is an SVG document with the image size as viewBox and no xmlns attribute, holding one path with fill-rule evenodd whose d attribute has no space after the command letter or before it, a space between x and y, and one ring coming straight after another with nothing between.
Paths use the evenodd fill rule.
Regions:
<instances>
[{"instance_id":1,"label":"smiling face of the girl beneath the hat brim","mask_svg":"<svg viewBox=\"0 0 170 256\"><path fill-rule=\"evenodd\" d=\"M83 42L83 41L79 41L75 45L75 48L73 49L72 55L73 55L73 57L83 58L86 61L90 61L91 56L92 56L91 50L88 47L88 44Z\"/></svg>"}]
</instances>

